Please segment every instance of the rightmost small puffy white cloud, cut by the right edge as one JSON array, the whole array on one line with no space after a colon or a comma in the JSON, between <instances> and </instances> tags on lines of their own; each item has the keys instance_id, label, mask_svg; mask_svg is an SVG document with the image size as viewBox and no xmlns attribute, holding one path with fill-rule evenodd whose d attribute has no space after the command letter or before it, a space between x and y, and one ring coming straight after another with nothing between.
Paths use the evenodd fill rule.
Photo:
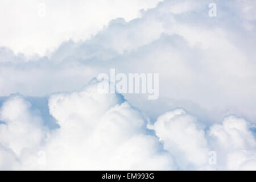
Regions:
<instances>
[{"instance_id":1,"label":"rightmost small puffy white cloud, cut by the right edge","mask_svg":"<svg viewBox=\"0 0 256 182\"><path fill-rule=\"evenodd\" d=\"M250 128L253 125L243 118L229 115L222 125L210 126L210 143L222 154L219 163L230 170L256 169L256 142ZM226 164L225 164L226 163Z\"/></svg>"}]
</instances>

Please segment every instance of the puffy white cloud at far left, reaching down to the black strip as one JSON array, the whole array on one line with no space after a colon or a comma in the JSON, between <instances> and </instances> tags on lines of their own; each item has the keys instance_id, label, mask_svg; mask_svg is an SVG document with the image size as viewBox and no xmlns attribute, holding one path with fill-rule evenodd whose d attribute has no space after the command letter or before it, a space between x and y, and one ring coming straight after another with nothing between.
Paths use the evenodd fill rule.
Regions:
<instances>
[{"instance_id":1,"label":"puffy white cloud at far left, reaching down to the black strip","mask_svg":"<svg viewBox=\"0 0 256 182\"><path fill-rule=\"evenodd\" d=\"M46 139L38 110L21 96L11 96L0 110L0 169L26 169Z\"/></svg>"}]
</instances>

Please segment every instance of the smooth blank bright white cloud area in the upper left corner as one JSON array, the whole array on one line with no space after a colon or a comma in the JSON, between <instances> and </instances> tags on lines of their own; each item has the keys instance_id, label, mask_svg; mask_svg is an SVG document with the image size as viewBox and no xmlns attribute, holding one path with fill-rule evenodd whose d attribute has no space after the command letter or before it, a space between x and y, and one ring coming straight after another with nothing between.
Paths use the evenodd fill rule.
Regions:
<instances>
[{"instance_id":1,"label":"smooth blank bright white cloud area in the upper left corner","mask_svg":"<svg viewBox=\"0 0 256 182\"><path fill-rule=\"evenodd\" d=\"M27 55L52 51L68 39L90 38L110 20L138 17L139 10L155 7L159 0L131 1L1 1L0 46ZM43 5L43 6L42 6Z\"/></svg>"}]
</instances>

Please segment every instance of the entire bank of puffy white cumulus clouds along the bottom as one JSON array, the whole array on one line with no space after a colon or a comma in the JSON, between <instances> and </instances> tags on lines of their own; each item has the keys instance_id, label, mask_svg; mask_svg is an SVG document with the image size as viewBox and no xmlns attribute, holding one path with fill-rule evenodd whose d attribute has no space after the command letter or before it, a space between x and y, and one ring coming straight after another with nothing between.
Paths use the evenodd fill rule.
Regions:
<instances>
[{"instance_id":1,"label":"entire bank of puffy white cumulus clouds along the bottom","mask_svg":"<svg viewBox=\"0 0 256 182\"><path fill-rule=\"evenodd\" d=\"M19 95L1 107L1 169L255 169L253 124L235 115L209 130L175 109L154 124L121 94L81 91L49 97L58 128L43 126L40 110ZM112 85L113 86L113 85ZM150 131L154 131L153 134ZM216 152L216 164L209 163Z\"/></svg>"}]
</instances>

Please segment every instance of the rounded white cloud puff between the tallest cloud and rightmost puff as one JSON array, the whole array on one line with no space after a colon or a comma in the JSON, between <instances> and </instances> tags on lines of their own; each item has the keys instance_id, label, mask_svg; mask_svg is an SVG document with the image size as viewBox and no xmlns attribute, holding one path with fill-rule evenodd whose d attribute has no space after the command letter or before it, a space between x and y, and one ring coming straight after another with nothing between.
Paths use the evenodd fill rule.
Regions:
<instances>
[{"instance_id":1,"label":"rounded white cloud puff between the tallest cloud and rightmost puff","mask_svg":"<svg viewBox=\"0 0 256 182\"><path fill-rule=\"evenodd\" d=\"M204 127L184 109L160 115L152 129L163 142L164 149L175 156L181 168L189 168L192 165L195 168L208 163L209 150Z\"/></svg>"}]
</instances>

